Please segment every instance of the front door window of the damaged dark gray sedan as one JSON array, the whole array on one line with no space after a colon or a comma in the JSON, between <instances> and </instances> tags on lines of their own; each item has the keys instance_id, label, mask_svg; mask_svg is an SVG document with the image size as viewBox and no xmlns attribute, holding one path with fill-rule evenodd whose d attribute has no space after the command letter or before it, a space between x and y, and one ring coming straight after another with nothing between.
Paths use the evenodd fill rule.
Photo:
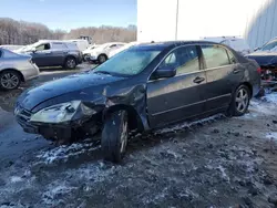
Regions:
<instances>
[{"instance_id":1,"label":"front door window of the damaged dark gray sedan","mask_svg":"<svg viewBox=\"0 0 277 208\"><path fill-rule=\"evenodd\" d=\"M176 74L199 71L199 59L196 46L182 46L174 50L158 67L176 69Z\"/></svg>"}]
</instances>

